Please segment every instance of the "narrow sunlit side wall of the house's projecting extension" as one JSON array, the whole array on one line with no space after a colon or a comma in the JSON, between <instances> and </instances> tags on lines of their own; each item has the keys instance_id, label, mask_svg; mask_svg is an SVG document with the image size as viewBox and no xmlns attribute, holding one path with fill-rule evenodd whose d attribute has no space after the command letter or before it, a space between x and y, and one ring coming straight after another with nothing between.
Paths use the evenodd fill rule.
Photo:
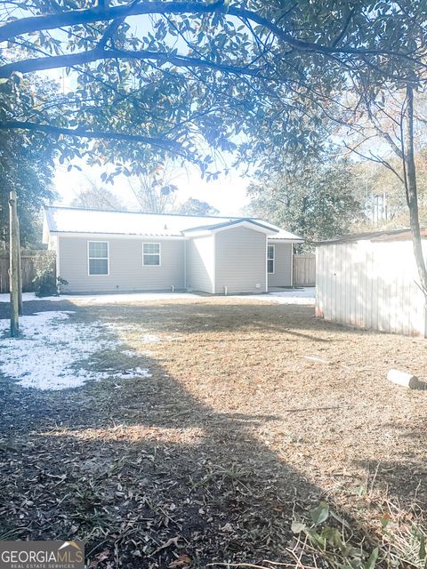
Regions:
<instances>
[{"instance_id":1,"label":"narrow sunlit side wall of the house's projecting extension","mask_svg":"<svg viewBox=\"0 0 427 569\"><path fill-rule=\"evenodd\" d=\"M214 292L214 236L195 237L187 243L187 287Z\"/></svg>"}]
</instances>

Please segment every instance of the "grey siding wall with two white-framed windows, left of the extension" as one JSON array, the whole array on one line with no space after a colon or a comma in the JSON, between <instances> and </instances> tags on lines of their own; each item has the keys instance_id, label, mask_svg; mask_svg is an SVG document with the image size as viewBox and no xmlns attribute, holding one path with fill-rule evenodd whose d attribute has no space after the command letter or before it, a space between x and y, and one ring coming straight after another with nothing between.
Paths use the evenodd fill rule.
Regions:
<instances>
[{"instance_id":1,"label":"grey siding wall with two white-framed windows, left of the extension","mask_svg":"<svg viewBox=\"0 0 427 569\"><path fill-rule=\"evenodd\" d=\"M109 242L109 275L89 276L88 241ZM161 244L161 266L142 265L142 243ZM184 288L184 241L93 236L59 238L58 274L69 293L167 290Z\"/></svg>"}]
</instances>

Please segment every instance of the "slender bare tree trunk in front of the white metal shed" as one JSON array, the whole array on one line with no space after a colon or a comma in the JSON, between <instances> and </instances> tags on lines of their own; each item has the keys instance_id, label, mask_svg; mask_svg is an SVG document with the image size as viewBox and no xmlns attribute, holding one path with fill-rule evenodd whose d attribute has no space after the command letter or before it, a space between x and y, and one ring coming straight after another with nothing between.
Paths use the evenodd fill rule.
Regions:
<instances>
[{"instance_id":1,"label":"slender bare tree trunk in front of the white metal shed","mask_svg":"<svg viewBox=\"0 0 427 569\"><path fill-rule=\"evenodd\" d=\"M416 188L416 168L414 157L414 90L407 85L407 120L404 152L405 186L407 190L407 207L409 208L409 221L412 230L414 252L418 275L420 276L423 293L427 298L427 268L423 255L423 243L421 239L420 218L418 212L418 195Z\"/></svg>"}]
</instances>

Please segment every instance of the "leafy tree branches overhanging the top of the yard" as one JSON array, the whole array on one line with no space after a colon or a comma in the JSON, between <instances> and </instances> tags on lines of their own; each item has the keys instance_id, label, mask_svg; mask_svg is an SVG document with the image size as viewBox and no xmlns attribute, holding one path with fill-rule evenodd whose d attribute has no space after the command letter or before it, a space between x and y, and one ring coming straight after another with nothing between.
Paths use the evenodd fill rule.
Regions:
<instances>
[{"instance_id":1,"label":"leafy tree branches overhanging the top of the yard","mask_svg":"<svg viewBox=\"0 0 427 569\"><path fill-rule=\"evenodd\" d=\"M8 100L0 128L67 136L65 157L115 172L139 173L149 151L211 174L206 148L239 161L303 153L324 141L327 116L349 119L353 83L372 94L426 69L423 0L3 4L0 41L13 49L0 77L62 68L73 88L25 109Z\"/></svg>"}]
</instances>

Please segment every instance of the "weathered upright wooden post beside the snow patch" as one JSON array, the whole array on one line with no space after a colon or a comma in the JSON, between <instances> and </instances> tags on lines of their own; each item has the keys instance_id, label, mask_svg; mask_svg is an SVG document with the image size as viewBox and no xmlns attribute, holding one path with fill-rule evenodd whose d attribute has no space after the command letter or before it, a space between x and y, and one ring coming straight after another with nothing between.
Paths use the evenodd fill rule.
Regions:
<instances>
[{"instance_id":1,"label":"weathered upright wooden post beside the snow patch","mask_svg":"<svg viewBox=\"0 0 427 569\"><path fill-rule=\"evenodd\" d=\"M17 338L20 334L20 254L19 254L19 228L18 213L16 210L16 193L11 192L9 198L9 228L10 228L10 287L11 287L11 336Z\"/></svg>"}]
</instances>

